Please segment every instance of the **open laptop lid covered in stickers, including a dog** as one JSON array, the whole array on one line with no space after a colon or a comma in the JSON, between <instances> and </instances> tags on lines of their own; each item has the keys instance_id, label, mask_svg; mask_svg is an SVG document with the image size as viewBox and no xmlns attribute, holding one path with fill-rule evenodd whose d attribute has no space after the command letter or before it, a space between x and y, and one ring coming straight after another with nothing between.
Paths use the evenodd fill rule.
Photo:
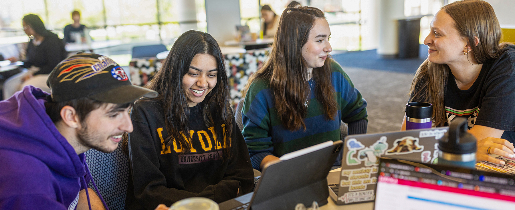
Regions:
<instances>
[{"instance_id":1,"label":"open laptop lid covered in stickers, including a dog","mask_svg":"<svg viewBox=\"0 0 515 210\"><path fill-rule=\"evenodd\" d=\"M439 127L346 136L341 171L335 171L340 179L329 183L330 197L338 205L374 201L379 156L437 163L438 139L448 131L449 127Z\"/></svg>"}]
</instances>

